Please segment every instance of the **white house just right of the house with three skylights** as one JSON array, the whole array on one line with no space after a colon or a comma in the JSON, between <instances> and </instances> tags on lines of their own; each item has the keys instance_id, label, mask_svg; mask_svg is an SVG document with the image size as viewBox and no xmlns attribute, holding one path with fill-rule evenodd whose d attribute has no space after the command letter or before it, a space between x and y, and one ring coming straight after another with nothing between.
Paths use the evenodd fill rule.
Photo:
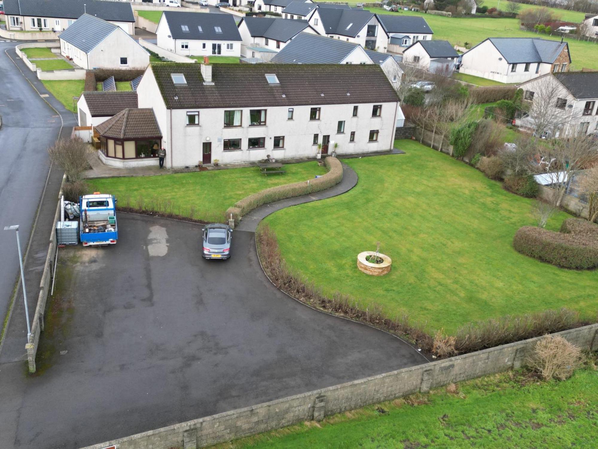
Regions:
<instances>
[{"instance_id":1,"label":"white house just right of the house with three skylights","mask_svg":"<svg viewBox=\"0 0 598 449\"><path fill-rule=\"evenodd\" d=\"M238 26L243 39L242 56L260 57L265 61L285 48L285 45L301 32L318 34L307 20L289 22L272 17L243 17Z\"/></svg>"}]
</instances>

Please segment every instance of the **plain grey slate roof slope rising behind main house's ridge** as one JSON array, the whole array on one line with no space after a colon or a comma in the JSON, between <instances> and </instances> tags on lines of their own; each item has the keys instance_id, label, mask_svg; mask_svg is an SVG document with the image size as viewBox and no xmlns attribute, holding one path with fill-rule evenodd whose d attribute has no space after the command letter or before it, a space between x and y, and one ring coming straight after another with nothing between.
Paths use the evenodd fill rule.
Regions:
<instances>
[{"instance_id":1,"label":"plain grey slate roof slope rising behind main house's ridge","mask_svg":"<svg viewBox=\"0 0 598 449\"><path fill-rule=\"evenodd\" d=\"M290 22L289 20L287 22ZM271 62L287 64L338 64L349 53L359 47L338 39L318 36L310 33L300 33L285 45Z\"/></svg>"}]
</instances>

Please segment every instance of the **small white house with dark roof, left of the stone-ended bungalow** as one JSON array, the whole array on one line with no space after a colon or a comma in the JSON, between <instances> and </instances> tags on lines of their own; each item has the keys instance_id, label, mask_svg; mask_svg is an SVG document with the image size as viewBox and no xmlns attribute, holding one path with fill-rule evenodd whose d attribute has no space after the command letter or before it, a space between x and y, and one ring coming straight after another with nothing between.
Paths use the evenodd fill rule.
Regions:
<instances>
[{"instance_id":1,"label":"small white house with dark roof, left of the stone-ended bungalow","mask_svg":"<svg viewBox=\"0 0 598 449\"><path fill-rule=\"evenodd\" d=\"M450 76L459 53L449 41L417 41L403 51L403 62Z\"/></svg>"}]
</instances>

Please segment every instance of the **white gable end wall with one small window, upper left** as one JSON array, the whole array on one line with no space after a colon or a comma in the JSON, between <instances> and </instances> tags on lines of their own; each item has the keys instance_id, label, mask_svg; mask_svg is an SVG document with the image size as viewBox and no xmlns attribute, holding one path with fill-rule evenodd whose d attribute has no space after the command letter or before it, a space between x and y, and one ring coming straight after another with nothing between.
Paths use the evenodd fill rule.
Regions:
<instances>
[{"instance_id":1,"label":"white gable end wall with one small window, upper left","mask_svg":"<svg viewBox=\"0 0 598 449\"><path fill-rule=\"evenodd\" d=\"M121 57L127 58L127 65L120 65ZM90 51L88 59L89 69L145 69L149 53L126 32L117 29Z\"/></svg>"}]
</instances>

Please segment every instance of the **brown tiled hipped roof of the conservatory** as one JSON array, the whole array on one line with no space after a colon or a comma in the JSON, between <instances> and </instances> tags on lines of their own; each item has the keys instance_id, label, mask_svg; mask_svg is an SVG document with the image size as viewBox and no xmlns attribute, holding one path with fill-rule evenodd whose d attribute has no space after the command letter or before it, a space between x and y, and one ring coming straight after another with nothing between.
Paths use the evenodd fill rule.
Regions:
<instances>
[{"instance_id":1,"label":"brown tiled hipped roof of the conservatory","mask_svg":"<svg viewBox=\"0 0 598 449\"><path fill-rule=\"evenodd\" d=\"M129 108L96 126L102 136L115 139L161 137L160 126L152 108Z\"/></svg>"}]
</instances>

